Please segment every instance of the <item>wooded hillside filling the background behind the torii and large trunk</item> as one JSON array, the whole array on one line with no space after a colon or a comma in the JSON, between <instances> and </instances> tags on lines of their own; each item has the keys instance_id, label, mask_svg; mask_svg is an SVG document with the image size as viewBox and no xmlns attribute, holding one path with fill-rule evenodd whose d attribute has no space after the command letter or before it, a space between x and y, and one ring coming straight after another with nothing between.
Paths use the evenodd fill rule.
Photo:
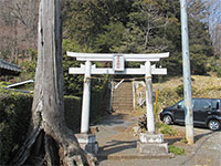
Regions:
<instances>
[{"instance_id":1,"label":"wooded hillside filling the background behind the torii and large trunk","mask_svg":"<svg viewBox=\"0 0 221 166\"><path fill-rule=\"evenodd\" d=\"M17 77L17 82L34 79L38 6L36 0L0 0L0 58L20 63L22 74ZM202 0L188 3L191 74L217 72L221 76L221 55L215 51L220 42L215 46L217 40L211 35L211 20L208 19L211 17L208 11L210 8ZM170 52L170 56L160 60L157 65L166 66L170 76L182 73L179 0L63 0L62 22L65 95L81 96L83 91L83 76L69 74L69 68L80 66L80 62L67 56L66 51ZM136 66L137 63L127 65ZM97 84L99 82L94 81L94 85Z\"/></svg>"}]
</instances>

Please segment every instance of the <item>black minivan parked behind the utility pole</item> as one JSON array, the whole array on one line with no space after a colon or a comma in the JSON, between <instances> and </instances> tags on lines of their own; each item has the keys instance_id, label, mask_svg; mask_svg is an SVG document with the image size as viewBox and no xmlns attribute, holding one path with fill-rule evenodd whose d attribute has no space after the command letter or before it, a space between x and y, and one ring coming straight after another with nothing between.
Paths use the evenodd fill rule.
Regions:
<instances>
[{"instance_id":1,"label":"black minivan parked behind the utility pole","mask_svg":"<svg viewBox=\"0 0 221 166\"><path fill-rule=\"evenodd\" d=\"M221 98L192 98L193 124L208 126L212 131L220 129ZM166 107L160 113L165 124L185 123L185 101Z\"/></svg>"}]
</instances>

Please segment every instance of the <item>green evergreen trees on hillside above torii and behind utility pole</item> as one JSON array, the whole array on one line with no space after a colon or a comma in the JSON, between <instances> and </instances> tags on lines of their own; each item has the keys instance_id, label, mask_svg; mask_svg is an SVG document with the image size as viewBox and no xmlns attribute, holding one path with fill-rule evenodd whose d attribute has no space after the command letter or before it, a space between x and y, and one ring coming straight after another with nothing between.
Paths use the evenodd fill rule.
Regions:
<instances>
[{"instance_id":1,"label":"green evergreen trees on hillside above torii and behind utility pole","mask_svg":"<svg viewBox=\"0 0 221 166\"><path fill-rule=\"evenodd\" d=\"M213 54L200 0L189 3L190 55L193 74L206 74ZM64 37L91 52L170 52L159 62L169 75L182 74L179 0L64 1Z\"/></svg>"}]
</instances>

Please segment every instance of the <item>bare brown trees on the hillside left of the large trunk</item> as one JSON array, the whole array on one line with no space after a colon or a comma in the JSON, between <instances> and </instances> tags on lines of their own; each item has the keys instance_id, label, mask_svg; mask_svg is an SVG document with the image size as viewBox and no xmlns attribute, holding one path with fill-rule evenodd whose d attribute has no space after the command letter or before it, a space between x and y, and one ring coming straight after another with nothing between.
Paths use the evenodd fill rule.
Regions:
<instances>
[{"instance_id":1,"label":"bare brown trees on the hillside left of the large trunk","mask_svg":"<svg viewBox=\"0 0 221 166\"><path fill-rule=\"evenodd\" d=\"M17 61L19 53L36 48L39 0L0 1L1 58ZM8 46L6 46L7 44Z\"/></svg>"}]
</instances>

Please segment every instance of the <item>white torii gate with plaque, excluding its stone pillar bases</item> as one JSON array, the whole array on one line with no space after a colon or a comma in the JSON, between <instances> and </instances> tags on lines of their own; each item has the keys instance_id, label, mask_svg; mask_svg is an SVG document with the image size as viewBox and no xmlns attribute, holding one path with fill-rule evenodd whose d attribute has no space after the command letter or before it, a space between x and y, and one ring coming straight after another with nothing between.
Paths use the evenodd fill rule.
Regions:
<instances>
[{"instance_id":1,"label":"white torii gate with plaque, excluding its stone pillar bases","mask_svg":"<svg viewBox=\"0 0 221 166\"><path fill-rule=\"evenodd\" d=\"M156 69L150 62L157 62L160 58L168 58L167 53L150 53L150 54L107 54L107 53L75 53L67 52L69 56L76 58L77 61L85 61L85 65L81 68L70 68L70 74L84 74L84 91L82 105L82 122L81 133L87 133L90 128L90 96L91 96L91 74L136 74L145 75L146 81L146 112L147 112L147 128L149 133L155 133L155 118L152 106L152 85L151 74L167 74L167 69ZM112 61L113 68L96 68L92 62ZM125 62L145 62L138 69L125 69Z\"/></svg>"}]
</instances>

